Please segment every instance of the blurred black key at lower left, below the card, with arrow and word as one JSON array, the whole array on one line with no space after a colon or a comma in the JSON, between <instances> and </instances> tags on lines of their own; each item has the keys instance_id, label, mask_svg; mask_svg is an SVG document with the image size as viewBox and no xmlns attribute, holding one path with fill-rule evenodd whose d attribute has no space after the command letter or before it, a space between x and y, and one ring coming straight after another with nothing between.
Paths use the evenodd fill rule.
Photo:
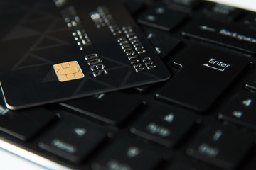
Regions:
<instances>
[{"instance_id":1,"label":"blurred black key at lower left, below the card, with arrow and word","mask_svg":"<svg viewBox=\"0 0 256 170\"><path fill-rule=\"evenodd\" d=\"M66 118L38 143L41 149L68 159L81 162L107 137L91 123L80 118Z\"/></svg>"}]
</instances>

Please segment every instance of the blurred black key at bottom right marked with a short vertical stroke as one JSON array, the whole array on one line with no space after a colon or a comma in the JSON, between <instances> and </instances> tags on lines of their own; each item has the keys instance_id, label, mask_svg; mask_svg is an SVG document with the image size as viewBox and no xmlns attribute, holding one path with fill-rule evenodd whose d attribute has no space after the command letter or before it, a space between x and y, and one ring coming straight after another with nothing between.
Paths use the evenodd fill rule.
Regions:
<instances>
[{"instance_id":1,"label":"blurred black key at bottom right marked with a short vertical stroke","mask_svg":"<svg viewBox=\"0 0 256 170\"><path fill-rule=\"evenodd\" d=\"M198 135L187 154L222 169L235 169L252 147L252 139L234 128L211 125Z\"/></svg>"}]
</instances>

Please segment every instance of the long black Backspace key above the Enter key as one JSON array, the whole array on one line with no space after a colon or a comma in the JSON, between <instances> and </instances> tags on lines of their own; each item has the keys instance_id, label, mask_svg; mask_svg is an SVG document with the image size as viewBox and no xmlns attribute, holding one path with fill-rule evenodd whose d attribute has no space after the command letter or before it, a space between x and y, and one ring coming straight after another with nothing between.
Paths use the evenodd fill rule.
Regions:
<instances>
[{"instance_id":1,"label":"long black Backspace key above the Enter key","mask_svg":"<svg viewBox=\"0 0 256 170\"><path fill-rule=\"evenodd\" d=\"M199 18L191 21L181 34L188 38L229 47L247 55L255 55L256 52L255 31L240 25Z\"/></svg>"}]
</instances>

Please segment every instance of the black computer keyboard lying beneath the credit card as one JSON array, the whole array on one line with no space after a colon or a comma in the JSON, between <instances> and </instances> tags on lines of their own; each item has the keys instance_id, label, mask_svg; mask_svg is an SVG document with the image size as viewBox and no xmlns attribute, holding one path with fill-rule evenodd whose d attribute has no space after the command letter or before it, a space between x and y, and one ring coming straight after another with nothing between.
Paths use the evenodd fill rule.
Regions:
<instances>
[{"instance_id":1,"label":"black computer keyboard lying beneath the credit card","mask_svg":"<svg viewBox=\"0 0 256 170\"><path fill-rule=\"evenodd\" d=\"M256 13L122 3L171 78L18 111L2 100L0 147L47 169L256 169Z\"/></svg>"}]
</instances>

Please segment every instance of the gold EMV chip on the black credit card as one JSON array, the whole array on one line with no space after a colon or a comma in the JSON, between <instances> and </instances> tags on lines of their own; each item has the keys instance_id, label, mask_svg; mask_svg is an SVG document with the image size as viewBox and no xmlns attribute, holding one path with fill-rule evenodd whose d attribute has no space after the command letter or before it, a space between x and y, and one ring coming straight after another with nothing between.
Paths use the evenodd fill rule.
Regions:
<instances>
[{"instance_id":1,"label":"gold EMV chip on the black credit card","mask_svg":"<svg viewBox=\"0 0 256 170\"><path fill-rule=\"evenodd\" d=\"M54 64L53 69L60 82L85 77L77 61Z\"/></svg>"}]
</instances>

